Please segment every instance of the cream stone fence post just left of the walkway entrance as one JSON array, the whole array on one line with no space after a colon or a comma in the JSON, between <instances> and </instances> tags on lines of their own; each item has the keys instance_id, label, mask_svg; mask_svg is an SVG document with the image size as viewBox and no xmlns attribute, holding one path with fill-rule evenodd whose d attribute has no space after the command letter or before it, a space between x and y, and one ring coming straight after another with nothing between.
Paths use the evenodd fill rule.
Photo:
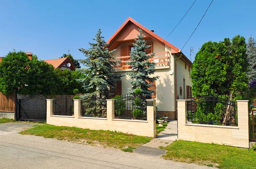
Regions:
<instances>
[{"instance_id":1,"label":"cream stone fence post just left of the walkway entrance","mask_svg":"<svg viewBox=\"0 0 256 169\"><path fill-rule=\"evenodd\" d=\"M155 99L148 99L147 101L147 121L150 124L150 135L156 137L156 109Z\"/></svg>"}]
</instances>

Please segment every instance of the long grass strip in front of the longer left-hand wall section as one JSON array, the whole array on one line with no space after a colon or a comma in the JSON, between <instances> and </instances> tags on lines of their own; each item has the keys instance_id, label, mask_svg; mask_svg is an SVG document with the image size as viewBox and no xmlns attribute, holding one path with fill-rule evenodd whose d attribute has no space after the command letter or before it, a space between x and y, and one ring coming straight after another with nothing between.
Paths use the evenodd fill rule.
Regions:
<instances>
[{"instance_id":1,"label":"long grass strip in front of the longer left-hand wall section","mask_svg":"<svg viewBox=\"0 0 256 169\"><path fill-rule=\"evenodd\" d=\"M114 147L125 152L132 152L137 146L145 144L153 139L152 137L136 136L121 132L89 130L50 124L37 124L31 129L20 132L20 134L56 138L58 140L67 140L82 144Z\"/></svg>"}]
</instances>

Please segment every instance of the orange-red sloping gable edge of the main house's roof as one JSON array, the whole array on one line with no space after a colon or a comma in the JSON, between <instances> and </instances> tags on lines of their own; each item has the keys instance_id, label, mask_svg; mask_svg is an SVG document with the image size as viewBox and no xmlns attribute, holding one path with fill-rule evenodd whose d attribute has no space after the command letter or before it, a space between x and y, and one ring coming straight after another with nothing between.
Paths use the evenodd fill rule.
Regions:
<instances>
[{"instance_id":1,"label":"orange-red sloping gable edge of the main house's roof","mask_svg":"<svg viewBox=\"0 0 256 169\"><path fill-rule=\"evenodd\" d=\"M165 39L163 39L162 37L156 35L155 33L153 33L152 31L150 31L149 29L145 28L144 26L142 26L141 24L137 23L133 18L128 17L128 19L124 22L124 24L109 38L109 40L107 41L107 43L110 43L114 40L114 38L124 29L124 27L126 25L129 24L129 22L133 23L134 25L136 25L137 27L141 28L142 30L144 30L146 33L150 34L152 37L154 37L157 40L160 40L162 43L164 43L165 45L167 45L168 47L170 47L172 49L172 53L179 53L181 52L180 49L176 48L175 46L171 45L170 43L168 43L168 41L166 41Z\"/></svg>"}]
</instances>

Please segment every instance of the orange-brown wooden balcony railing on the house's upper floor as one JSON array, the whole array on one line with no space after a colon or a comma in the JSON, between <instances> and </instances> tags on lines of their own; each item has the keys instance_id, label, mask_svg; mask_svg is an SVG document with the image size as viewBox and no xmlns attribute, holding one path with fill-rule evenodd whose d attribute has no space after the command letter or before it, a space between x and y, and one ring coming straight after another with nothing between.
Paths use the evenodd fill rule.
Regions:
<instances>
[{"instance_id":1,"label":"orange-brown wooden balcony railing on the house's upper floor","mask_svg":"<svg viewBox=\"0 0 256 169\"><path fill-rule=\"evenodd\" d=\"M149 58L150 62L155 63L155 68L169 68L169 60L170 55L169 52L159 52L155 53L153 58ZM127 64L130 60L130 56L118 56L115 57L115 61L117 61L117 65L114 67L115 70L124 70L131 69L131 66Z\"/></svg>"}]
</instances>

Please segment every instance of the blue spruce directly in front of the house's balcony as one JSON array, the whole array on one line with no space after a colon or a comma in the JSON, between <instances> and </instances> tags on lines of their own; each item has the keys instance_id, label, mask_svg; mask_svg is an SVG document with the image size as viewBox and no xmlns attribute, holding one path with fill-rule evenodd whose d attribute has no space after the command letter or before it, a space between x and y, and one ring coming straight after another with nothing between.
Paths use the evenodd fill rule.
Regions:
<instances>
[{"instance_id":1,"label":"blue spruce directly in front of the house's balcony","mask_svg":"<svg viewBox=\"0 0 256 169\"><path fill-rule=\"evenodd\" d=\"M139 29L139 31L138 39L135 39L133 44L134 49L130 53L130 62L127 62L132 67L132 72L128 73L132 80L130 82L132 85L131 94L134 94L135 89L141 89L141 96L150 99L154 91L149 90L151 87L149 82L155 81L158 77L150 76L155 72L155 64L148 59L154 57L154 53L146 53L146 49L149 49L150 45L146 45L142 29Z\"/></svg>"}]
</instances>

